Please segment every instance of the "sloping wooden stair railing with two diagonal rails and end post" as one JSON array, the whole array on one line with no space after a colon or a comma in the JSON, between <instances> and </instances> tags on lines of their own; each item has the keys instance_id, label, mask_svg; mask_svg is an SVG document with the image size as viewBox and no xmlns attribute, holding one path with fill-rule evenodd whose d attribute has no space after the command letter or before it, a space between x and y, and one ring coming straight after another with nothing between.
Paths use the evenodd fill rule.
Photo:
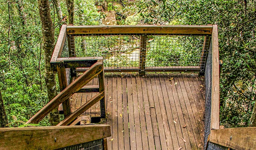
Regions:
<instances>
[{"instance_id":1,"label":"sloping wooden stair railing with two diagonal rails and end post","mask_svg":"<svg viewBox=\"0 0 256 150\"><path fill-rule=\"evenodd\" d=\"M101 117L105 118L105 94L104 94L104 71L103 71L103 61L102 58L97 58L95 60L91 59L83 59L80 60L82 62L87 63L88 68L81 76L79 76L74 82L72 82L70 85L68 85L66 88L64 88L57 96L55 96L47 105L45 105L40 111L38 111L32 118L30 118L27 123L38 123L40 120L42 120L49 112L51 112L54 108L56 108L58 105L63 103L64 101L69 100L68 98L72 96L74 93L78 92L84 86L89 83L94 77L98 76L99 80L99 88L98 88L98 94L96 94L94 97L92 97L88 102L83 104L79 109L74 111L72 114L65 117L63 121L61 121L58 125L68 125L72 121L76 119L79 115L81 115L85 110L90 108L93 104L100 102L101 107ZM64 72L65 66L68 67L69 61L60 60L56 61L57 68L62 68L62 74L61 76L65 76L66 73ZM95 63L94 63L95 62ZM94 64L93 64L94 63ZM60 66L62 64L63 66ZM57 69L58 70L58 69ZM65 78L60 78L61 82L65 82ZM66 84L66 83L65 83ZM69 103L69 101L68 101Z\"/></svg>"}]
</instances>

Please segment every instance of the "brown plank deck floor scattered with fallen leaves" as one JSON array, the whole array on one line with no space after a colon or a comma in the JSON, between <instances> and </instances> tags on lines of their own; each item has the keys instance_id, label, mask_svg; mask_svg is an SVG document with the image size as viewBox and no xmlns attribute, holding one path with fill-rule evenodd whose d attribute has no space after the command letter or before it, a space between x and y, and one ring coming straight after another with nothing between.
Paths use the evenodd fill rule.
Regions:
<instances>
[{"instance_id":1,"label":"brown plank deck floor scattered with fallen leaves","mask_svg":"<svg viewBox=\"0 0 256 150\"><path fill-rule=\"evenodd\" d=\"M108 74L105 88L109 150L203 149L205 89L197 74ZM92 96L74 94L71 111ZM99 106L83 115L99 117Z\"/></svg>"}]
</instances>

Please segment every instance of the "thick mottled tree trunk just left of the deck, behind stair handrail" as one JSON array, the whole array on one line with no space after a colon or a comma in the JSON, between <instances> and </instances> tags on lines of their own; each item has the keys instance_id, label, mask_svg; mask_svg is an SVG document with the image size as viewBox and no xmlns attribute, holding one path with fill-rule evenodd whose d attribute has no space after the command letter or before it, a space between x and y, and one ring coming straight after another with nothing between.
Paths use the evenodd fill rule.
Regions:
<instances>
[{"instance_id":1,"label":"thick mottled tree trunk just left of the deck, behind stair handrail","mask_svg":"<svg viewBox=\"0 0 256 150\"><path fill-rule=\"evenodd\" d=\"M52 26L52 20L50 16L50 8L48 0L38 0L39 15L42 23L43 33L43 50L44 50L44 61L45 61L45 83L48 93L49 101L52 100L56 95L56 81L55 74L51 70L50 60L54 49L54 31ZM49 114L49 120L51 125L57 125L60 122L58 108L55 108Z\"/></svg>"}]
</instances>

